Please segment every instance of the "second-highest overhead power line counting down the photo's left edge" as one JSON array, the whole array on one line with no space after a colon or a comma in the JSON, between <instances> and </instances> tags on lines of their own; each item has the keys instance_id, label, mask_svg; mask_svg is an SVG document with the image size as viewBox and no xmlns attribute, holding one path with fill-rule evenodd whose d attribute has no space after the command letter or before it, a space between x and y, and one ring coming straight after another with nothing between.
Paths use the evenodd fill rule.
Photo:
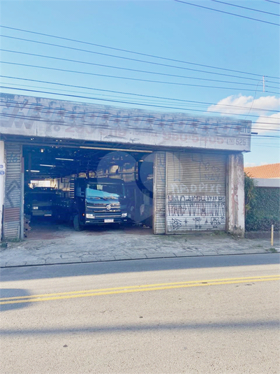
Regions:
<instances>
[{"instance_id":1,"label":"second-highest overhead power line counting down the photo's left edge","mask_svg":"<svg viewBox=\"0 0 280 374\"><path fill-rule=\"evenodd\" d=\"M231 82L231 81L228 81L228 80L216 80L216 79L209 79L209 78L191 77L191 76L186 76L186 75L159 73L159 72L154 72L154 71L145 71L145 70L139 70L139 69L129 69L129 68L121 67L121 66L96 64L94 62L85 62L85 61L80 61L80 60L75 60L75 59L64 59L64 58L61 58L61 57L54 57L54 56L47 56L47 55L38 55L36 53L20 52L20 51L15 51L15 50L5 50L5 49L2 49L2 48L0 48L0 50L3 51L3 52L17 53L17 54L20 54L20 55L43 57L43 58L46 58L46 59L56 59L56 60L59 60L59 61L75 62L75 63L78 63L78 64L101 66L101 67L110 68L110 69L119 69L119 70L124 70L124 71L133 71L133 72L137 72L137 73L147 73L147 74L164 75L164 76L168 76L168 77L184 78L184 79L207 80L207 81L210 81L210 82L222 82L222 83L231 83L231 84L234 84L234 85L249 85L249 86L256 87L256 84L253 84L253 83ZM242 77L240 77L240 78L242 78ZM277 87L273 87L273 88L277 88Z\"/></svg>"}]
</instances>

